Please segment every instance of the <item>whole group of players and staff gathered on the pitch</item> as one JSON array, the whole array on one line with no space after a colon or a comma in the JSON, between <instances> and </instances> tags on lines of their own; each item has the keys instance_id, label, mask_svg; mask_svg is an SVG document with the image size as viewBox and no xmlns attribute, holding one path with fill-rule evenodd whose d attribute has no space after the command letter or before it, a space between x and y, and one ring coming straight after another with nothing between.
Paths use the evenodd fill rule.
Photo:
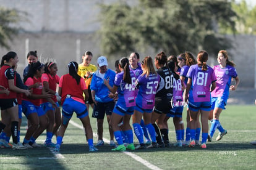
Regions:
<instances>
[{"instance_id":1,"label":"whole group of players and staff gathered on the pitch","mask_svg":"<svg viewBox=\"0 0 256 170\"><path fill-rule=\"evenodd\" d=\"M59 152L74 112L83 124L90 152L105 144L105 115L113 151L171 147L169 118L173 118L176 131L175 147L207 148L207 141L211 142L216 129L220 131L216 140L227 134L220 124L220 113L225 109L229 89L237 88L239 78L226 51L218 52L219 64L213 68L207 65L206 51L198 52L196 59L190 52L178 57L167 57L160 52L154 59L147 56L141 62L140 55L132 52L129 58L116 61L115 71L108 68L104 56L98 57L97 69L90 63L92 57L92 52L86 51L83 62L70 62L69 73L59 78L57 63L40 63L36 51L31 51L22 80L15 71L19 62L17 54L4 55L0 69L0 147L40 147L36 139L46 129L44 146ZM231 85L232 79L234 85ZM88 115L90 106L93 118L97 119L96 145ZM188 106L186 131L182 120L184 106ZM28 128L20 142L22 113L28 120ZM201 126L202 141L199 142ZM139 140L137 146L134 134ZM11 136L12 144L9 143ZM56 144L52 142L53 136L56 136Z\"/></svg>"}]
</instances>

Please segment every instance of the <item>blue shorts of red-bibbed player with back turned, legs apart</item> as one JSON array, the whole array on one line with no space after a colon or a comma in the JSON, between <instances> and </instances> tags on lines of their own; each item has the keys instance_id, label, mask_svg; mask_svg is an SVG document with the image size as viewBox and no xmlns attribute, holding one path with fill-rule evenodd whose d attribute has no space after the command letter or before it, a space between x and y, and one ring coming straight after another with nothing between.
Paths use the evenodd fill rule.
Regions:
<instances>
[{"instance_id":1,"label":"blue shorts of red-bibbed player with back turned, legs apart","mask_svg":"<svg viewBox=\"0 0 256 170\"><path fill-rule=\"evenodd\" d=\"M72 98L65 99L62 105L62 115L65 118L70 119L72 118L74 111L77 114L77 118L79 119L88 116L87 107L85 106L85 104L77 102Z\"/></svg>"}]
</instances>

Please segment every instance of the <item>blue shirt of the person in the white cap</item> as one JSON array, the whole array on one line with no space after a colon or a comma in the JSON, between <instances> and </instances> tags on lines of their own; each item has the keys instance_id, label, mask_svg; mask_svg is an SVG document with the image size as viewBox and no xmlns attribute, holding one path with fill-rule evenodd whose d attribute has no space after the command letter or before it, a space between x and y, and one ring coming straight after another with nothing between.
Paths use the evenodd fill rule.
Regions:
<instances>
[{"instance_id":1,"label":"blue shirt of the person in the white cap","mask_svg":"<svg viewBox=\"0 0 256 170\"><path fill-rule=\"evenodd\" d=\"M113 87L114 85L114 77L116 76L116 73L114 71L108 69L105 73L104 78L109 80L109 85ZM106 103L110 102L113 99L108 97L108 87L104 84L104 80L99 75L99 70L95 71L92 76L92 82L90 89L92 91L95 91L95 100L97 102Z\"/></svg>"}]
</instances>

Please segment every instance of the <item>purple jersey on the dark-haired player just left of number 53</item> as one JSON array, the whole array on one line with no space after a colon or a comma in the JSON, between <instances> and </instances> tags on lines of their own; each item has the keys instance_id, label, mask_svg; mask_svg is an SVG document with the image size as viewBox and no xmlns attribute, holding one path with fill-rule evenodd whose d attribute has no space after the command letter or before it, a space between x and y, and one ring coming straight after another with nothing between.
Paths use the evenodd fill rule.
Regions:
<instances>
[{"instance_id":1,"label":"purple jersey on the dark-haired player just left of number 53","mask_svg":"<svg viewBox=\"0 0 256 170\"><path fill-rule=\"evenodd\" d=\"M114 86L117 86L118 100L124 100L126 107L135 106L135 75L130 71L132 84L125 83L123 80L124 71L118 73L114 78Z\"/></svg>"}]
</instances>

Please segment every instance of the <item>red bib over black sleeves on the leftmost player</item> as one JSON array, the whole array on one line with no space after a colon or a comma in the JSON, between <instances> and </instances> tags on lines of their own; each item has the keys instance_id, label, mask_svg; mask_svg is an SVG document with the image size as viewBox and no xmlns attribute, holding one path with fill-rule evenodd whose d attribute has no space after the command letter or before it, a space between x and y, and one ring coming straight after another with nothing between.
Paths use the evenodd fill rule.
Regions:
<instances>
[{"instance_id":1,"label":"red bib over black sleeves on the leftmost player","mask_svg":"<svg viewBox=\"0 0 256 170\"><path fill-rule=\"evenodd\" d=\"M16 75L14 74L14 69L9 65L3 65L0 69L0 85L9 89L9 79L14 79L14 86L16 86ZM0 94L0 99L17 99L17 93L10 91L9 95Z\"/></svg>"}]
</instances>

